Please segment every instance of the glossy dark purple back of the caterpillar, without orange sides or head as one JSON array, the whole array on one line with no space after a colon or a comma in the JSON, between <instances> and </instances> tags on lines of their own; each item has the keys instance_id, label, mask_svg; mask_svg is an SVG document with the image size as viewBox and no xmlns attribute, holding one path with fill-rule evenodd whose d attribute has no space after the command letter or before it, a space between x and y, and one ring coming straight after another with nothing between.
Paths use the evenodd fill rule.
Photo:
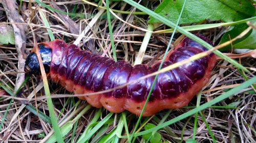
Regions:
<instances>
[{"instance_id":1,"label":"glossy dark purple back of the caterpillar, without orange sides or head","mask_svg":"<svg viewBox=\"0 0 256 143\"><path fill-rule=\"evenodd\" d=\"M197 36L210 43L209 39L204 36ZM204 51L206 49L199 43L185 38L183 46L171 53L172 55L164 62L163 67ZM210 56L159 74L151 93L150 102L177 97L180 93L188 92L193 84L204 77ZM61 60L51 65L51 69L55 70L54 73L66 76L67 79L74 81L74 84L94 92L108 90L132 82L154 73L158 68L159 62L152 67L147 67L144 64L132 67L131 64L123 60L115 62L110 58L100 57L88 51L81 51L79 47L73 44L63 50ZM143 102L150 92L154 79L155 76L136 81L123 88L104 93L104 96Z\"/></svg>"}]
</instances>

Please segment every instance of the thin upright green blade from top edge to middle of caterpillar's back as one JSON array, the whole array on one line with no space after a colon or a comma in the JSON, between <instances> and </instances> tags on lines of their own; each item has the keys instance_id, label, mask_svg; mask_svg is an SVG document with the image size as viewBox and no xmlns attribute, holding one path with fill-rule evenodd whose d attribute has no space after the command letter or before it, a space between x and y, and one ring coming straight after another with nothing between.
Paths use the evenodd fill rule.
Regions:
<instances>
[{"instance_id":1,"label":"thin upright green blade from top edge to middle of caterpillar's back","mask_svg":"<svg viewBox=\"0 0 256 143\"><path fill-rule=\"evenodd\" d=\"M111 17L110 17L110 5L109 0L106 0L106 15L108 17L108 25L109 25L109 33L110 33L110 42L113 52L113 58L115 61L117 61L116 58L116 50L115 50L115 43L114 43L114 37L113 37L113 31L112 31L112 25L111 25Z\"/></svg>"}]
</instances>

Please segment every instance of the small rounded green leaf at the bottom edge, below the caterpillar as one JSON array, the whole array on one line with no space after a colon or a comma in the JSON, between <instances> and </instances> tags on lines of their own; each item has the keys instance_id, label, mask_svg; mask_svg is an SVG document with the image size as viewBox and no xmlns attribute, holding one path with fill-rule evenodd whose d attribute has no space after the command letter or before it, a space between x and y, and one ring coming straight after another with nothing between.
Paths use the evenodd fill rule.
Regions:
<instances>
[{"instance_id":1,"label":"small rounded green leaf at the bottom edge, below the caterpillar","mask_svg":"<svg viewBox=\"0 0 256 143\"><path fill-rule=\"evenodd\" d=\"M148 129L151 129L151 128L154 128L156 127L156 125L154 124L151 124L151 123L147 123L144 127L145 130L148 130ZM161 135L160 133L155 133L154 135L152 135L152 133L149 133L149 134L145 134L145 135L142 135L142 138L148 140L150 139L150 142L151 143L154 143L154 142L160 142L161 141Z\"/></svg>"}]
</instances>

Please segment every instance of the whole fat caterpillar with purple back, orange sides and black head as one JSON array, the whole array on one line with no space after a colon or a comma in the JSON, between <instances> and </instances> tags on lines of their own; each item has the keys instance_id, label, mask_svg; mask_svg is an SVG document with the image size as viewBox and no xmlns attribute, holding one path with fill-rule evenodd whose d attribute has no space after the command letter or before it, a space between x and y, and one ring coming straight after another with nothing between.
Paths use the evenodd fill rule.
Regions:
<instances>
[{"instance_id":1,"label":"whole fat caterpillar with purple back, orange sides and black head","mask_svg":"<svg viewBox=\"0 0 256 143\"><path fill-rule=\"evenodd\" d=\"M204 35L197 36L210 43ZM75 94L123 85L157 71L160 65L157 62L151 67L144 64L133 67L123 60L115 62L113 59L81 50L74 44L67 45L62 40L38 43L38 47L48 77ZM168 53L163 67L204 51L205 47L186 37L176 45L175 50ZM215 63L216 55L210 54L160 74L143 116L187 105L206 85ZM27 57L25 70L28 74L39 74L39 63L33 50ZM79 98L87 100L94 107L103 106L111 112L129 110L140 114L154 78L140 80L108 93Z\"/></svg>"}]
</instances>

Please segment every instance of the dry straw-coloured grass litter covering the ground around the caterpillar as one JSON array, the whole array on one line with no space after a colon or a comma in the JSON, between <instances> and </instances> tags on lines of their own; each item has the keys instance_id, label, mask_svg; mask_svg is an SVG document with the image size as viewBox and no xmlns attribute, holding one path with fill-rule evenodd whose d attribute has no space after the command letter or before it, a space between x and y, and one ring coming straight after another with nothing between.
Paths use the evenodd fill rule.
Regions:
<instances>
[{"instance_id":1,"label":"dry straw-coloured grass litter covering the ground around the caterpillar","mask_svg":"<svg viewBox=\"0 0 256 143\"><path fill-rule=\"evenodd\" d=\"M39 15L38 9L44 12L47 20L52 28L54 37L56 39L64 39L67 42L72 43L76 40L77 36L93 17L99 13L99 9L95 6L91 6L81 1L65 2L57 1L53 6L51 1L43 1L47 5L52 7L59 7L62 11L72 12L75 5L77 6L77 16L70 16L69 20L65 20L66 15L60 15L57 12L46 9L45 7L39 6L37 3L30 3L30 1L23 1L21 4L19 1L16 3L17 12L20 17L27 23L24 26L26 48L21 48L22 56L25 58L30 52L35 42L49 41L49 34L45 27L45 24ZM158 2L143 2L143 5L150 9L157 6ZM132 11L130 5L123 2L113 2L111 5L114 9L121 11ZM85 17L78 17L79 14L83 13ZM122 14L116 13L118 17L130 23L132 26L127 25L123 21L115 18L112 19L112 27L115 39L115 47L118 59L124 59L130 63L134 63L136 54L139 51L141 41L143 40L144 33L137 28L146 29L147 15L134 15L134 14ZM17 16L17 15L16 15ZM1 22L10 22L8 19L6 9L3 5L0 5L0 19ZM71 21L70 21L71 20ZM74 21L74 23L72 23ZM207 23L208 21L205 21ZM160 26L158 28L167 29L166 26ZM156 29L155 31L157 31ZM226 28L208 29L203 31L196 31L194 33L204 33L208 35L211 40L215 40L218 43L220 38L219 33L222 33ZM14 29L15 30L15 29ZM103 56L112 57L112 50L110 46L108 22L106 20L105 11L100 15L97 22L89 29L89 32L84 35L84 38L80 42L82 49L90 50L93 53L98 53ZM15 33L16 34L16 33ZM165 47L168 44L171 33L167 34L153 34L150 44L148 44L146 53L143 58L143 63L151 64L155 60L161 59ZM176 34L175 38L180 36ZM18 60L18 56L21 53L17 53L17 46L15 45L1 45L0 46L0 83L5 87L8 87L10 91L17 89L16 78L18 71L18 62L24 62ZM256 62L254 58L245 57L237 58L243 66L254 68ZM216 67L212 71L212 77L210 82L203 90L201 103L212 100L216 96L224 93L231 87L236 87L238 84L245 81L243 74L250 78L255 75L255 70L250 70L251 74L242 73L237 70L236 67L231 64L219 59ZM20 74L18 76L24 76ZM19 81L18 85L21 82ZM63 94L68 93L59 85L56 85L49 81L49 86L52 94ZM22 94L18 94L18 98L32 99L31 101L24 101L21 99L15 99L10 104L10 108L5 118L2 129L0 130L0 142L39 142L52 130L52 125L41 120L37 115L31 113L31 110L25 108L24 105L31 105L37 110L49 116L48 106L46 99L37 99L44 95L44 88L42 88L42 82L39 77L31 77L22 89ZM35 92L36 91L36 94ZM217 142L254 142L255 141L255 89L248 87L234 96L221 101L216 106L203 110L203 115L209 125L210 130L214 134ZM30 96L29 96L30 95ZM70 118L74 118L83 107L87 105L84 101L79 101L78 98L56 98L52 99L54 103L54 110L58 116L58 122L60 124L66 123ZM0 121L2 122L4 113L10 103L10 99L3 96L0 98ZM189 104L190 106L196 106L196 98ZM226 108L229 105L230 108ZM74 141L84 131L86 126L92 120L94 114L99 109L91 108L88 112L83 114L77 122L77 127L73 128L66 136L65 141L71 142L73 130L75 130ZM179 110L173 110L167 117L167 121L190 110L188 107L181 108ZM157 125L159 120L165 115L167 110L161 111L156 114L153 118L148 120L149 123ZM108 112L102 109L101 118L103 118ZM101 120L101 118L99 120ZM113 124L108 126L108 130L102 133L110 132L118 123L119 114L112 116ZM147 121L148 118L142 118L142 121ZM163 128L159 131L162 140L170 142L179 142L182 139L186 140L192 138L194 130L194 119L195 115L185 118L173 125ZM126 114L127 125L129 131L135 126L137 117L131 113ZM123 135L125 134L123 129ZM94 138L94 137L93 137ZM96 138L95 138L96 139ZM138 137L136 142L140 142L141 137ZM196 139L198 142L211 142L209 131L207 130L201 115L198 116L198 128ZM92 140L91 140L92 141ZM97 140L93 140L97 141ZM120 139L120 142L126 142L126 139Z\"/></svg>"}]
</instances>

